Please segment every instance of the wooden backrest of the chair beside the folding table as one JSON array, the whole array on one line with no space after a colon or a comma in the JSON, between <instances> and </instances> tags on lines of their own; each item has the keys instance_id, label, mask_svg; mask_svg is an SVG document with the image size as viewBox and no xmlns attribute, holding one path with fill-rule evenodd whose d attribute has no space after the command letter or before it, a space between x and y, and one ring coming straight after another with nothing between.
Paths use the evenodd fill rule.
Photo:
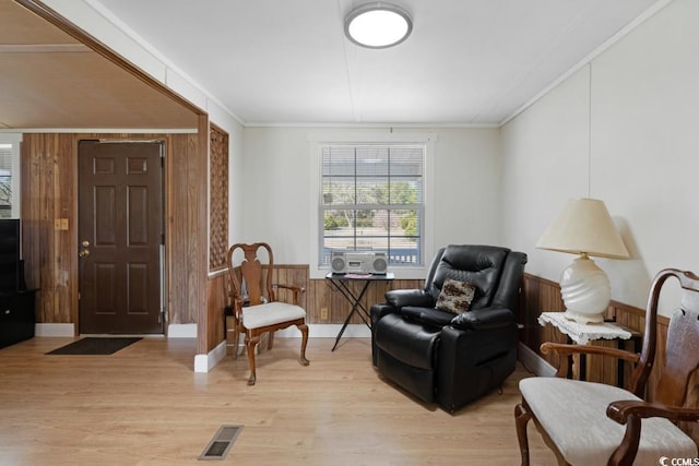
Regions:
<instances>
[{"instance_id":1,"label":"wooden backrest of the chair beside the folding table","mask_svg":"<svg viewBox=\"0 0 699 466\"><path fill-rule=\"evenodd\" d=\"M266 261L263 264L259 251L266 251ZM236 264L236 251L242 251L240 263ZM275 301L272 275L274 273L274 256L272 248L265 242L253 244L236 243L228 249L227 255L228 276L234 296L249 300L250 306L261 304L264 299Z\"/></svg>"}]
</instances>

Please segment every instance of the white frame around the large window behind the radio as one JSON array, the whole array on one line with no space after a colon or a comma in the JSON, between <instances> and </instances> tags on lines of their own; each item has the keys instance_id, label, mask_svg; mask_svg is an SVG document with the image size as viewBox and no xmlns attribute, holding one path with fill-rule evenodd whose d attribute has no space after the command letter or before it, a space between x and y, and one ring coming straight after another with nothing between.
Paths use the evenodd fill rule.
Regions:
<instances>
[{"instance_id":1,"label":"white frame around the large window behind the radio","mask_svg":"<svg viewBox=\"0 0 699 466\"><path fill-rule=\"evenodd\" d=\"M310 181L310 278L324 278L330 272L330 265L320 264L320 251L323 244L322 212L322 150L329 145L422 145L424 146L423 163L423 216L422 216L422 264L405 265L400 267L389 266L389 271L396 278L419 279L425 277L427 265L434 255L434 159L436 136L431 133L404 133L387 132L383 130L357 130L329 134L309 134L311 181Z\"/></svg>"}]
</instances>

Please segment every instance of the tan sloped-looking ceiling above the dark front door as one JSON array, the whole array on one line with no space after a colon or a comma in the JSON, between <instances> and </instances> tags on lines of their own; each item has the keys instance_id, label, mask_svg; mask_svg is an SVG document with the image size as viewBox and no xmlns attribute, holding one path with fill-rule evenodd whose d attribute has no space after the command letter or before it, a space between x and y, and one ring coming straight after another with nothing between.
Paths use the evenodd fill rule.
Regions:
<instances>
[{"instance_id":1,"label":"tan sloped-looking ceiling above the dark front door","mask_svg":"<svg viewBox=\"0 0 699 466\"><path fill-rule=\"evenodd\" d=\"M94 45L0 0L0 130L197 128L197 108L81 40Z\"/></svg>"}]
</instances>

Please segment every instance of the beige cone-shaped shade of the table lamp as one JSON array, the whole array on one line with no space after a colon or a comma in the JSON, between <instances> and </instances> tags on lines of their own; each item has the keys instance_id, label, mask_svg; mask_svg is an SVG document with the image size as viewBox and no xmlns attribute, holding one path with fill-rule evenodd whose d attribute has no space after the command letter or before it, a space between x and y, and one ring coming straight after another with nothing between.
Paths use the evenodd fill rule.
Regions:
<instances>
[{"instance_id":1,"label":"beige cone-shaped shade of the table lamp","mask_svg":"<svg viewBox=\"0 0 699 466\"><path fill-rule=\"evenodd\" d=\"M606 205L597 199L569 200L536 248L597 258L629 256Z\"/></svg>"}]
</instances>

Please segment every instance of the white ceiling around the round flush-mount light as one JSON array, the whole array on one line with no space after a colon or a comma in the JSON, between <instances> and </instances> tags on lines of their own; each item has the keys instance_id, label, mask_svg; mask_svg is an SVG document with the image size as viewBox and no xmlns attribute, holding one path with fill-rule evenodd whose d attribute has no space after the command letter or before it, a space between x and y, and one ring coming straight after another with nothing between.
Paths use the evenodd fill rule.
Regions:
<instances>
[{"instance_id":1,"label":"white ceiling around the round flush-mount light","mask_svg":"<svg viewBox=\"0 0 699 466\"><path fill-rule=\"evenodd\" d=\"M393 0L391 49L350 43L363 0L87 0L245 124L500 124L656 0ZM126 27L125 27L126 26Z\"/></svg>"}]
</instances>

